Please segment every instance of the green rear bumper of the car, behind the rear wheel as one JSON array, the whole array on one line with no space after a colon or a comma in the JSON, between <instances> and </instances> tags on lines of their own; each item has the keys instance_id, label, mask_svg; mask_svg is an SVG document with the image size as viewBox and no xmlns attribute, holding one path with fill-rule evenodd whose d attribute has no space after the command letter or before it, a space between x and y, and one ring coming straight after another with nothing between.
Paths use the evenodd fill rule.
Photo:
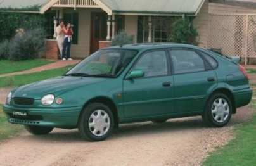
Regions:
<instances>
[{"instance_id":1,"label":"green rear bumper of the car, behind the rear wheel","mask_svg":"<svg viewBox=\"0 0 256 166\"><path fill-rule=\"evenodd\" d=\"M236 108L248 105L252 100L252 89L243 89L234 92L234 101Z\"/></svg>"}]
</instances>

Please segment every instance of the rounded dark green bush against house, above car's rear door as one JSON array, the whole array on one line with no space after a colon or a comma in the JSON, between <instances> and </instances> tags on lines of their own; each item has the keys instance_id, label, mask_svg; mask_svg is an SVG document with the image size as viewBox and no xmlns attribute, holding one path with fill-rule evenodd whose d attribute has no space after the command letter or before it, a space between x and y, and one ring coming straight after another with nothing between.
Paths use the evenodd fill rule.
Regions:
<instances>
[{"instance_id":1,"label":"rounded dark green bush against house, above car's rear door","mask_svg":"<svg viewBox=\"0 0 256 166\"><path fill-rule=\"evenodd\" d=\"M198 32L193 27L193 22L189 18L176 20L172 24L172 31L170 33L170 42L182 44L198 44L196 39Z\"/></svg>"}]
</instances>

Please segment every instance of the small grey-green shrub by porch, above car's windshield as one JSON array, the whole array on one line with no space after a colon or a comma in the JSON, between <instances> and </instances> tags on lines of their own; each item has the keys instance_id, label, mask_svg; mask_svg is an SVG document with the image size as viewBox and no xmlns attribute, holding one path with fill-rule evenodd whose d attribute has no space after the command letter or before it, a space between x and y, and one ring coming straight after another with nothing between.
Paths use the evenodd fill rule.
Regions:
<instances>
[{"instance_id":1,"label":"small grey-green shrub by porch, above car's windshield","mask_svg":"<svg viewBox=\"0 0 256 166\"><path fill-rule=\"evenodd\" d=\"M133 43L133 36L128 35L124 30L120 31L116 36L115 39L112 40L112 46L122 46L124 44L132 44Z\"/></svg>"}]
</instances>

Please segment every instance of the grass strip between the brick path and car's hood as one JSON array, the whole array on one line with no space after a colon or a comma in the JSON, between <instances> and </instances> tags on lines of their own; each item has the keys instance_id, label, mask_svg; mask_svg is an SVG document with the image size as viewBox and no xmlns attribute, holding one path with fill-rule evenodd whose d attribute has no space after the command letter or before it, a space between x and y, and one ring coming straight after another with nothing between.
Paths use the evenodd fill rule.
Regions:
<instances>
[{"instance_id":1,"label":"grass strip between the brick path and car's hood","mask_svg":"<svg viewBox=\"0 0 256 166\"><path fill-rule=\"evenodd\" d=\"M63 75L70 67L63 67L42 72L29 73L24 75L15 75L10 77L0 77L0 87L18 87L30 84L39 80L49 79Z\"/></svg>"}]
</instances>

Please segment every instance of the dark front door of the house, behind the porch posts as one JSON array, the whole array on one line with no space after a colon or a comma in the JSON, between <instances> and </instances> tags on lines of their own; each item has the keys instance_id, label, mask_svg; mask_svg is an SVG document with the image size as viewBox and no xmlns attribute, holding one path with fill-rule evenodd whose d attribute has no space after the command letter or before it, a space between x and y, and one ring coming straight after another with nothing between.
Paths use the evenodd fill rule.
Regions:
<instances>
[{"instance_id":1,"label":"dark front door of the house, behind the porch posts","mask_svg":"<svg viewBox=\"0 0 256 166\"><path fill-rule=\"evenodd\" d=\"M106 30L108 15L102 12L91 13L91 44L90 53L94 53L99 49L99 41L106 40Z\"/></svg>"}]
</instances>

